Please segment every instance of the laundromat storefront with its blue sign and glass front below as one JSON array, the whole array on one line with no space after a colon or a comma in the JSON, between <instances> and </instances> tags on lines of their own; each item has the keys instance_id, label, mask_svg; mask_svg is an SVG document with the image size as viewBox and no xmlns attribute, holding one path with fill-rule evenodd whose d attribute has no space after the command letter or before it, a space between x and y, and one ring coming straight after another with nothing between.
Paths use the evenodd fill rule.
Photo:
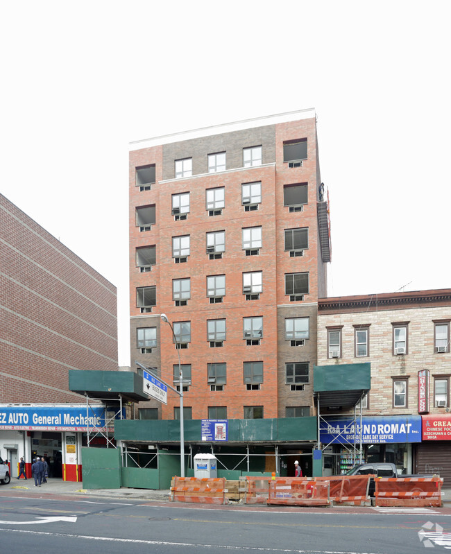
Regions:
<instances>
[{"instance_id":1,"label":"laundromat storefront with its blue sign and glass front below","mask_svg":"<svg viewBox=\"0 0 451 554\"><path fill-rule=\"evenodd\" d=\"M401 415L360 419L325 418L320 425L323 474L345 474L358 463L391 462L402 473L412 472L412 444L421 441L421 417ZM360 457L361 444L361 457Z\"/></svg>"}]
</instances>

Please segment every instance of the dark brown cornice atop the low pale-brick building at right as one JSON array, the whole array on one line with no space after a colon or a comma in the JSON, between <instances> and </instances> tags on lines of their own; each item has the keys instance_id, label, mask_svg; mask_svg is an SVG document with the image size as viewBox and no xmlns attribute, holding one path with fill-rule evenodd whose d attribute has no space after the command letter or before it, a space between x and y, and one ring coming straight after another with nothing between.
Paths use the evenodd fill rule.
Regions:
<instances>
[{"instance_id":1,"label":"dark brown cornice atop the low pale-brick building at right","mask_svg":"<svg viewBox=\"0 0 451 554\"><path fill-rule=\"evenodd\" d=\"M318 298L318 313L320 314L424 308L427 306L451 306L451 288Z\"/></svg>"}]
</instances>

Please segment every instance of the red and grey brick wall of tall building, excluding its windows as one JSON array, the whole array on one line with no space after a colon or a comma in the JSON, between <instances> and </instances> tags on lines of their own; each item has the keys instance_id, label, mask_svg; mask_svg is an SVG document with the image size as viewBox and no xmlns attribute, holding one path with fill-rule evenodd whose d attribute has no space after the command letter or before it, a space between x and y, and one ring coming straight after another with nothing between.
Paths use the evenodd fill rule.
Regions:
<instances>
[{"instance_id":1,"label":"red and grey brick wall of tall building, excluding its windows","mask_svg":"<svg viewBox=\"0 0 451 554\"><path fill-rule=\"evenodd\" d=\"M160 324L160 314L170 322L190 321L191 342L180 349L182 364L192 365L192 382L185 392L184 404L192 408L193 419L206 418L209 406L226 406L227 417L244 417L244 406L263 406L265 418L285 417L286 406L310 406L312 378L305 391L291 391L285 383L285 363L308 361L311 372L316 362L316 303L318 292L326 290L325 263L321 261L318 241L318 153L314 112L298 112L289 118L262 119L246 127L223 125L219 128L150 139L130 146L130 347L131 365L135 360L155 367L162 379L172 384L173 365L178 363L169 325ZM269 124L270 123L270 124ZM239 127L239 128L237 128ZM283 143L307 139L307 159L299 167L284 162ZM262 164L243 167L243 148L262 146ZM226 152L226 171L207 173L208 155ZM175 178L176 159L192 158L192 176ZM137 168L155 164L155 183L139 187ZM262 183L262 201L256 211L245 211L241 185ZM302 212L284 206L284 185L308 184L308 202ZM206 209L207 189L224 187L225 207L211 216ZM141 190L143 189L144 190ZM150 189L149 189L150 188ZM171 197L189 193L189 213L175 220ZM141 231L136 224L136 208L155 205L155 224ZM246 256L243 228L262 227L262 248L258 255ZM284 230L307 227L309 248L303 257L290 257L284 250ZM210 259L206 252L206 234L225 231L225 252L221 259ZM172 238L190 236L190 253L185 263L174 263ZM136 250L156 247L156 263L142 272L136 263ZM258 300L246 300L243 273L262 271L263 291ZM286 273L308 272L309 291L303 301L290 301L285 294ZM223 302L210 304L206 279L226 276ZM190 279L191 295L186 306L175 306L173 279ZM137 306L137 288L156 287L156 305L151 313ZM259 345L246 345L243 318L263 317L263 336ZM309 318L309 338L304 346L290 347L284 334L285 318ZM226 319L223 347L210 347L207 320ZM157 347L142 352L137 345L137 329L156 328ZM248 390L244 383L243 363L262 361L264 381L259 390ZM226 363L224 390L212 391L207 383L207 364ZM178 397L169 393L168 405L149 401L145 407L159 410L162 419L173 419ZM141 406L141 407L144 407Z\"/></svg>"}]
</instances>

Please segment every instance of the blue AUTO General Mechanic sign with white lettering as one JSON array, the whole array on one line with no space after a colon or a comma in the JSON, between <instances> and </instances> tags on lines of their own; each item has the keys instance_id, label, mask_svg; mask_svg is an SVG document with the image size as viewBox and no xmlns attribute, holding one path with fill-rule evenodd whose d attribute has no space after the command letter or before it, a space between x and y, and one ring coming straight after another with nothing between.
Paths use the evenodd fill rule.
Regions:
<instances>
[{"instance_id":1,"label":"blue AUTO General Mechanic sign with white lettering","mask_svg":"<svg viewBox=\"0 0 451 554\"><path fill-rule=\"evenodd\" d=\"M105 428L105 408L86 406L0 406L0 430L86 431Z\"/></svg>"}]
</instances>

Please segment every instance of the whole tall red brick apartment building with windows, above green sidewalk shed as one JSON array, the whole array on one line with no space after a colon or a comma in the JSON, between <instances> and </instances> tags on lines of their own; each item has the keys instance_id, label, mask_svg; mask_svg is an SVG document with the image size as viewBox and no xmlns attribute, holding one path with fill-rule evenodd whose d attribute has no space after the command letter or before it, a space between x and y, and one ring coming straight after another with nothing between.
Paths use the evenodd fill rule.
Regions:
<instances>
[{"instance_id":1,"label":"whole tall red brick apartment building with windows, above green sidewalk shed","mask_svg":"<svg viewBox=\"0 0 451 554\"><path fill-rule=\"evenodd\" d=\"M130 144L131 365L180 386L167 314L186 419L314 415L328 261L314 110Z\"/></svg>"}]
</instances>

